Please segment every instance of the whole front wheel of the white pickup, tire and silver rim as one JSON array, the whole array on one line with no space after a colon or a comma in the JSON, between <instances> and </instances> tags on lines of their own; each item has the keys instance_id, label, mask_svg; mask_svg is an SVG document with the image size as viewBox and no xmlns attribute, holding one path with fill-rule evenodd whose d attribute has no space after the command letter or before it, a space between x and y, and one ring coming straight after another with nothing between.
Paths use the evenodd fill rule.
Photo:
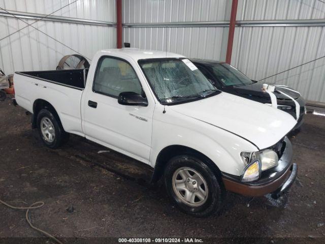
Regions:
<instances>
[{"instance_id":1,"label":"whole front wheel of the white pickup, tire and silver rim","mask_svg":"<svg viewBox=\"0 0 325 244\"><path fill-rule=\"evenodd\" d=\"M164 178L168 195L187 214L207 217L220 208L223 188L215 173L199 158L172 158Z\"/></svg>"}]
</instances>

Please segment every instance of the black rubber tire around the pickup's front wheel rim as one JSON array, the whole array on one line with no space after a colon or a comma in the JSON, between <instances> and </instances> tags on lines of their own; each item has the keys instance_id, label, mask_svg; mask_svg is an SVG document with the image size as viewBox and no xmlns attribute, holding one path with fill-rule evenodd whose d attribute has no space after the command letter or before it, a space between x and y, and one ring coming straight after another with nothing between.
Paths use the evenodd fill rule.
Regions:
<instances>
[{"instance_id":1,"label":"black rubber tire around the pickup's front wheel rim","mask_svg":"<svg viewBox=\"0 0 325 244\"><path fill-rule=\"evenodd\" d=\"M164 173L165 187L171 200L180 210L195 217L207 217L215 214L221 208L224 196L224 188L222 186L221 179L208 166L209 164L204 161L205 160L201 160L199 157L195 156L176 156L168 162ZM193 169L204 178L208 188L206 191L208 194L205 198L205 202L203 201L201 203L202 205L190 206L184 202L185 199L182 199L180 195L176 193L176 189L174 191L174 179L177 179L176 177L178 176L173 179L173 175L174 173L177 175L177 172L179 172L181 168ZM183 177L181 177L179 180L183 180ZM186 184L188 183L185 182L185 186ZM198 188L196 188L196 190L198 190Z\"/></svg>"}]
</instances>

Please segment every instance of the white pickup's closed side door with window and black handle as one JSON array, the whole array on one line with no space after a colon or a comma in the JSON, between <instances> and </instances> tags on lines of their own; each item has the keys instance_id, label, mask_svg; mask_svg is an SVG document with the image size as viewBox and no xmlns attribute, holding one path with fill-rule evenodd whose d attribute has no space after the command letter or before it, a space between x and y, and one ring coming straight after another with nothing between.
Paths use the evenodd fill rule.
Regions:
<instances>
[{"instance_id":1,"label":"white pickup's closed side door with window and black handle","mask_svg":"<svg viewBox=\"0 0 325 244\"><path fill-rule=\"evenodd\" d=\"M87 139L149 163L154 104L128 106L117 102L121 92L146 97L136 71L125 59L102 56L92 89L83 95L83 128Z\"/></svg>"}]
</instances>

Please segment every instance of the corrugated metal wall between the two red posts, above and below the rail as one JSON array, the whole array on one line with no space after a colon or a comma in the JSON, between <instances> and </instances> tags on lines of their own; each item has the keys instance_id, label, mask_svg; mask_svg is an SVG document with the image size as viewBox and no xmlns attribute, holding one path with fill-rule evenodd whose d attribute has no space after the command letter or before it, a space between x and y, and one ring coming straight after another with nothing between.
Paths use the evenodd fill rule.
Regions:
<instances>
[{"instance_id":1,"label":"corrugated metal wall between the two red posts, above and below the rail","mask_svg":"<svg viewBox=\"0 0 325 244\"><path fill-rule=\"evenodd\" d=\"M227 0L123 0L123 23L224 21L229 18ZM188 57L224 59L226 27L127 27L124 42L132 47L165 50Z\"/></svg>"}]
</instances>

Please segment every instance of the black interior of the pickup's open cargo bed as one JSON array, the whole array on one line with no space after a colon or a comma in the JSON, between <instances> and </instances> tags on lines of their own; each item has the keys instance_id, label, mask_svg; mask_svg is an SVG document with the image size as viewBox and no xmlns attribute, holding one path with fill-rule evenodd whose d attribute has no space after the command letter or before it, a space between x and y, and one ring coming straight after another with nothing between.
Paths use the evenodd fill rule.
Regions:
<instances>
[{"instance_id":1,"label":"black interior of the pickup's open cargo bed","mask_svg":"<svg viewBox=\"0 0 325 244\"><path fill-rule=\"evenodd\" d=\"M85 69L85 74L83 69L26 71L16 73L59 85L69 86L71 88L84 89L88 69Z\"/></svg>"}]
</instances>

